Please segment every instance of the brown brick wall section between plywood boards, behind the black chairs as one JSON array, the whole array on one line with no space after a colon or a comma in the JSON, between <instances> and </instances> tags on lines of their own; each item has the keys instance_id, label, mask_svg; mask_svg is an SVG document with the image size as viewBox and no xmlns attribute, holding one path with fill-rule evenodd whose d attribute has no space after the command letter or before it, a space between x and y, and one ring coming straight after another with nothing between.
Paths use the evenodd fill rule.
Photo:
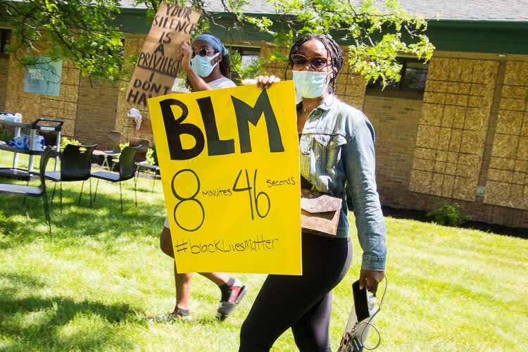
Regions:
<instances>
[{"instance_id":1,"label":"brown brick wall section between plywood boards, behind the black chairs","mask_svg":"<svg viewBox=\"0 0 528 352\"><path fill-rule=\"evenodd\" d=\"M108 132L115 127L119 89L108 82L82 77L79 87L75 139L109 148Z\"/></svg>"}]
</instances>

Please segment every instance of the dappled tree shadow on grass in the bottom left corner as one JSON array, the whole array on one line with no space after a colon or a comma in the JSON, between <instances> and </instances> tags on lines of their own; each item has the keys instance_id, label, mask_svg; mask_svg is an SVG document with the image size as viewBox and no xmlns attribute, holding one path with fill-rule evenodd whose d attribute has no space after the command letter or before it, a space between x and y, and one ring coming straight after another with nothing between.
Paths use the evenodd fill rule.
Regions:
<instances>
[{"instance_id":1,"label":"dappled tree shadow on grass in the bottom left corner","mask_svg":"<svg viewBox=\"0 0 528 352\"><path fill-rule=\"evenodd\" d=\"M123 322L137 320L138 312L127 304L37 296L45 284L30 275L0 272L0 282L0 332L12 341L11 351L99 350L113 342L134 348L133 341L115 334Z\"/></svg>"}]
</instances>

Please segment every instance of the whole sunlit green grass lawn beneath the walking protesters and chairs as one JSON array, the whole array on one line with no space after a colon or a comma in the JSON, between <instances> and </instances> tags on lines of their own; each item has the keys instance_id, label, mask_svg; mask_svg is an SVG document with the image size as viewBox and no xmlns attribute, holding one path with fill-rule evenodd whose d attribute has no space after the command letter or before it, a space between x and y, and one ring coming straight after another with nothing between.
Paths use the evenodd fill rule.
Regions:
<instances>
[{"instance_id":1,"label":"whole sunlit green grass lawn beneath the walking protesters and chairs","mask_svg":"<svg viewBox=\"0 0 528 352\"><path fill-rule=\"evenodd\" d=\"M0 166L11 156L0 151ZM151 182L140 180L137 208L126 182L123 215L117 185L100 182L90 209L87 197L77 206L80 182L63 184L63 212L58 202L51 209L52 234L41 199L27 199L23 208L21 198L0 194L0 350L237 351L239 327L264 275L237 275L250 291L225 322L214 319L218 289L199 275L191 322L146 322L174 305L172 262L158 249L161 184L151 193ZM389 288L374 321L379 351L528 351L527 240L412 220L386 223ZM352 267L334 291L334 350L359 272L355 228L351 237ZM273 351L296 351L290 332Z\"/></svg>"}]
</instances>

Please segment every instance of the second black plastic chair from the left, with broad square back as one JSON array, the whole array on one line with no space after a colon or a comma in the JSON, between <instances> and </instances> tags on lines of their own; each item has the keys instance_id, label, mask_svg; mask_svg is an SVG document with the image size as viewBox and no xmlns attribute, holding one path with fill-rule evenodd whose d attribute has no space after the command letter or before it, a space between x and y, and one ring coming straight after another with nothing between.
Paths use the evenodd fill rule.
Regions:
<instances>
[{"instance_id":1,"label":"second black plastic chair from the left, with broad square back","mask_svg":"<svg viewBox=\"0 0 528 352\"><path fill-rule=\"evenodd\" d=\"M53 182L60 182L61 211L63 209L63 182L82 181L81 192L79 194L79 203L81 204L82 189L84 181L90 178L90 168L92 167L92 153L97 144L89 146L75 146L68 144L61 155L61 171L47 171L46 179ZM92 208L92 182L90 184L90 208ZM51 194L51 203L54 201L55 189Z\"/></svg>"}]
</instances>

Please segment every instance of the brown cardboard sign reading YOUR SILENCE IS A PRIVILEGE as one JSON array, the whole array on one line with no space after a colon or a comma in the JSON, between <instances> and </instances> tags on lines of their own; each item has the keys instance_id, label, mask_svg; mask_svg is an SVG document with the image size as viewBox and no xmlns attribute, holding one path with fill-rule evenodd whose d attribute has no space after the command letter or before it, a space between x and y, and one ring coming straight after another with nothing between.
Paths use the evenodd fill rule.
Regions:
<instances>
[{"instance_id":1,"label":"brown cardboard sign reading YOUR SILENCE IS A PRIVILEGE","mask_svg":"<svg viewBox=\"0 0 528 352\"><path fill-rule=\"evenodd\" d=\"M180 68L180 45L191 38L200 13L163 1L130 80L127 103L146 108L152 96L168 94Z\"/></svg>"}]
</instances>

